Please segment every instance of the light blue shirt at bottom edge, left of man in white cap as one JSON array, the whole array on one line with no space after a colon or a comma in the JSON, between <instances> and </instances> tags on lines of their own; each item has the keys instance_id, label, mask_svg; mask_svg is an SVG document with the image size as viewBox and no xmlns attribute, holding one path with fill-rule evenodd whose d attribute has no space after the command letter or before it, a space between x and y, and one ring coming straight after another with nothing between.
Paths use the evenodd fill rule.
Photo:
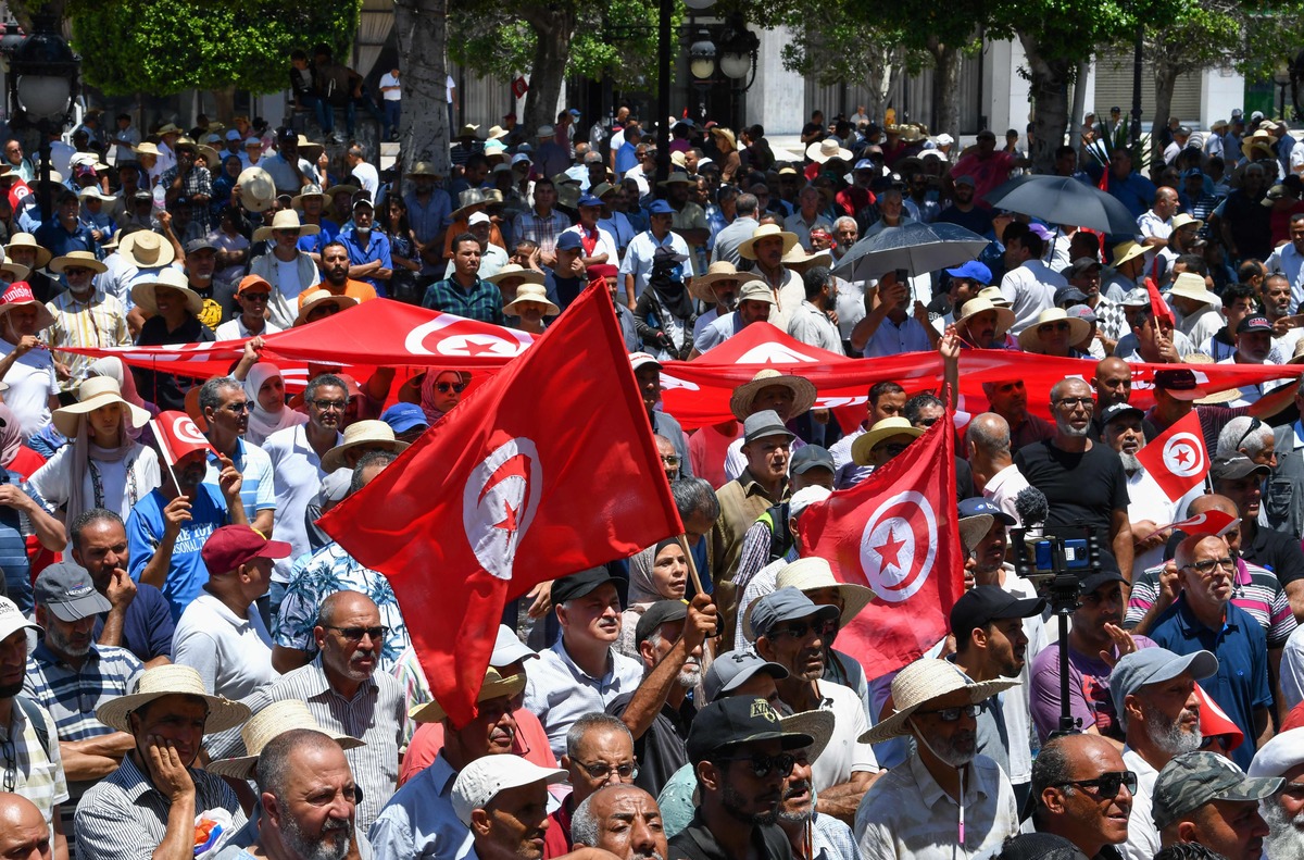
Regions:
<instances>
[{"instance_id":1,"label":"light blue shirt at bottom edge, left of man in white cap","mask_svg":"<svg viewBox=\"0 0 1304 860\"><path fill-rule=\"evenodd\" d=\"M458 771L439 753L434 763L398 790L368 834L376 860L463 860L475 856L471 830L452 810L452 783L456 778Z\"/></svg>"}]
</instances>

